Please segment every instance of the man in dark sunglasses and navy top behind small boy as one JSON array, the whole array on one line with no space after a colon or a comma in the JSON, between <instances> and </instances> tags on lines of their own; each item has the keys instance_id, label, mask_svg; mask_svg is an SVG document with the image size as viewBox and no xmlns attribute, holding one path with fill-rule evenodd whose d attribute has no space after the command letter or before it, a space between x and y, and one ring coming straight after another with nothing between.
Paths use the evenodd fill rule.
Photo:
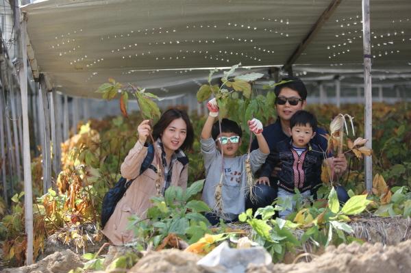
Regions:
<instances>
[{"instance_id":1,"label":"man in dark sunglasses and navy top behind small boy","mask_svg":"<svg viewBox=\"0 0 411 273\"><path fill-rule=\"evenodd\" d=\"M288 77L282 79L274 89L275 95L275 109L277 111L277 120L264 127L262 135L269 144L270 151L278 142L290 138L289 127L290 118L295 112L304 109L307 105L307 89L303 81L297 77ZM323 137L327 132L322 128L317 128L312 143L321 148L322 151L327 151L327 140ZM251 150L258 148L256 140L251 145ZM344 155L338 155L338 157L328 157L327 163L334 169L334 176L338 177L347 170L347 159ZM275 198L277 198L277 178L276 174L281 166L274 168L271 177L259 177L258 185L255 189L257 200L251 202L246 201L246 208L258 209L259 207L265 207L271 205ZM349 196L347 191L341 187L336 187L338 200L341 203L347 202Z\"/></svg>"}]
</instances>

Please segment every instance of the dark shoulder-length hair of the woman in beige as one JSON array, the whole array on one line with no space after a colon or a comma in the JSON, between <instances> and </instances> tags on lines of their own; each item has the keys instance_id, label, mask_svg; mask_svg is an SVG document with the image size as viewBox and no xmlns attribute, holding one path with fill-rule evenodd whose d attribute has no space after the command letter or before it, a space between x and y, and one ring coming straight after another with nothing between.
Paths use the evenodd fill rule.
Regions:
<instances>
[{"instance_id":1,"label":"dark shoulder-length hair of the woman in beige","mask_svg":"<svg viewBox=\"0 0 411 273\"><path fill-rule=\"evenodd\" d=\"M160 138L164 130L170 125L171 122L173 122L173 120L176 120L177 118L182 118L184 122L186 122L186 139L180 147L182 150L186 151L192 148L192 142L194 142L194 129L192 129L190 118L188 118L186 111L179 109L168 109L166 112L164 112L161 115L160 120L158 120L158 122L155 123L153 127L153 139L155 141Z\"/></svg>"}]
</instances>

